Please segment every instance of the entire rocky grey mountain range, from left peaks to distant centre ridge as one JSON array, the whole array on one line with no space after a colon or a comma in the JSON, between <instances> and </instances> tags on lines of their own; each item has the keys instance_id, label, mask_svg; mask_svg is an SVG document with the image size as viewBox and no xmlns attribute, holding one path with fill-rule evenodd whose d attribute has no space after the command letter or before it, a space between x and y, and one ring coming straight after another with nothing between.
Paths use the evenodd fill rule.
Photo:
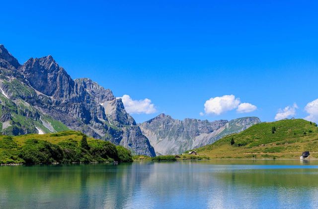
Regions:
<instances>
[{"instance_id":1,"label":"entire rocky grey mountain range, from left peaks to distant centre ridge","mask_svg":"<svg viewBox=\"0 0 318 209\"><path fill-rule=\"evenodd\" d=\"M257 117L181 121L160 114L136 124L111 90L87 78L73 80L51 55L21 65L0 45L0 131L5 135L72 129L154 157L211 144L259 122Z\"/></svg>"}]
</instances>

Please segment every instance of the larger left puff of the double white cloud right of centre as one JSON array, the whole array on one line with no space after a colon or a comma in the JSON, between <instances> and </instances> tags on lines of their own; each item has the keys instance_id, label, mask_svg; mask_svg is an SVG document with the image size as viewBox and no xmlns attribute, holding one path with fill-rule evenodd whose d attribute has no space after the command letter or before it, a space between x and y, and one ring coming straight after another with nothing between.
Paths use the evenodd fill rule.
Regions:
<instances>
[{"instance_id":1,"label":"larger left puff of the double white cloud right of centre","mask_svg":"<svg viewBox=\"0 0 318 209\"><path fill-rule=\"evenodd\" d=\"M210 98L210 100L207 100L204 104L204 111L207 114L220 115L223 112L237 108L239 103L239 98L235 98L234 95Z\"/></svg>"}]
</instances>

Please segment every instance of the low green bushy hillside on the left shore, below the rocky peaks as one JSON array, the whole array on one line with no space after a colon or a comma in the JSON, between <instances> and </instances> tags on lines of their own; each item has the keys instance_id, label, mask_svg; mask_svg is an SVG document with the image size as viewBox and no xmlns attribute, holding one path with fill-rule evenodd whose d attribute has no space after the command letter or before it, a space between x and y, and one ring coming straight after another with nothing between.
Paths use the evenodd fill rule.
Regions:
<instances>
[{"instance_id":1,"label":"low green bushy hillside on the left shore, below the rocky peaks","mask_svg":"<svg viewBox=\"0 0 318 209\"><path fill-rule=\"evenodd\" d=\"M84 143L83 136L76 131L0 135L0 164L132 161L131 152L126 148L93 138L87 138Z\"/></svg>"}]
</instances>

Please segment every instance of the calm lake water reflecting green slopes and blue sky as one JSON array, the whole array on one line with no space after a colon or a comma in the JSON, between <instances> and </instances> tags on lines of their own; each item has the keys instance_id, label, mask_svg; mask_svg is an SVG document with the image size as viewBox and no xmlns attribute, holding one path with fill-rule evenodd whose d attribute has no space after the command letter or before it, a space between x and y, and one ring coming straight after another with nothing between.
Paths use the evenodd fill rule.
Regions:
<instances>
[{"instance_id":1,"label":"calm lake water reflecting green slopes and blue sky","mask_svg":"<svg viewBox=\"0 0 318 209\"><path fill-rule=\"evenodd\" d=\"M0 166L0 208L318 208L318 161Z\"/></svg>"}]
</instances>

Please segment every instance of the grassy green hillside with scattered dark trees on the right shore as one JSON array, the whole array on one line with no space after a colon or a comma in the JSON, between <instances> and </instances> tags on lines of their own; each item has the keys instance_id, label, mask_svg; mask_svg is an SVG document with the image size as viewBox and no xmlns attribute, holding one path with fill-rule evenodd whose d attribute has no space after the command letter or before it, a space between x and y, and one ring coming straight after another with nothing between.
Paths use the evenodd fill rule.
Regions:
<instances>
[{"instance_id":1,"label":"grassy green hillside with scattered dark trees on the right shore","mask_svg":"<svg viewBox=\"0 0 318 209\"><path fill-rule=\"evenodd\" d=\"M194 150L211 158L299 158L303 151L318 158L318 127L303 119L259 123Z\"/></svg>"}]
</instances>

